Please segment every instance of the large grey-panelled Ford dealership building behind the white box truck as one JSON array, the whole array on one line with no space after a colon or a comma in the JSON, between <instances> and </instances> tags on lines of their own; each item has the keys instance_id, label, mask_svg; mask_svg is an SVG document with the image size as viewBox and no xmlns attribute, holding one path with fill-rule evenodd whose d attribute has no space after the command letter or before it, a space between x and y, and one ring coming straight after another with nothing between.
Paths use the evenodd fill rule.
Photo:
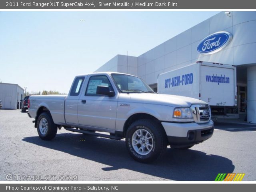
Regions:
<instances>
[{"instance_id":1,"label":"large grey-panelled Ford dealership building behind the white box truck","mask_svg":"<svg viewBox=\"0 0 256 192\"><path fill-rule=\"evenodd\" d=\"M215 36L222 32L230 35L225 42ZM256 123L255 32L256 12L220 12L140 56L116 55L96 72L133 74L157 91L159 74L197 61L235 66L237 106L218 112L230 117L247 114L247 122ZM208 52L204 46L208 46Z\"/></svg>"}]
</instances>

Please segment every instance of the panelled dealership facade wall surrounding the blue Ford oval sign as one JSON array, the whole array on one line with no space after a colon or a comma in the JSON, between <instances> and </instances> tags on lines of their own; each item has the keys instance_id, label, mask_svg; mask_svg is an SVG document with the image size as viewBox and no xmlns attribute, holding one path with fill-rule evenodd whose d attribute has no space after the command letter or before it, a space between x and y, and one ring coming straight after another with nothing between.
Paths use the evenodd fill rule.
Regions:
<instances>
[{"instance_id":1,"label":"panelled dealership facade wall surrounding the blue Ford oval sign","mask_svg":"<svg viewBox=\"0 0 256 192\"><path fill-rule=\"evenodd\" d=\"M206 36L227 31L233 40L220 52L203 55L197 52L199 42ZM220 12L174 38L138 56L137 75L148 84L155 84L160 73L206 61L230 65L256 63L256 12Z\"/></svg>"}]
</instances>

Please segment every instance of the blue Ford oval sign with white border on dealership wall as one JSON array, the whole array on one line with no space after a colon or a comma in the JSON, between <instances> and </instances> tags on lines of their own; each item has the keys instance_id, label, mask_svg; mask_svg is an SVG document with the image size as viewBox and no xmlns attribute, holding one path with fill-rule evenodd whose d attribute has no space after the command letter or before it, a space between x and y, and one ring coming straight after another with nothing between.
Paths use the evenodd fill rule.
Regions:
<instances>
[{"instance_id":1,"label":"blue Ford oval sign with white border on dealership wall","mask_svg":"<svg viewBox=\"0 0 256 192\"><path fill-rule=\"evenodd\" d=\"M208 55L220 51L232 40L229 32L220 31L204 38L197 46L197 51Z\"/></svg>"}]
</instances>

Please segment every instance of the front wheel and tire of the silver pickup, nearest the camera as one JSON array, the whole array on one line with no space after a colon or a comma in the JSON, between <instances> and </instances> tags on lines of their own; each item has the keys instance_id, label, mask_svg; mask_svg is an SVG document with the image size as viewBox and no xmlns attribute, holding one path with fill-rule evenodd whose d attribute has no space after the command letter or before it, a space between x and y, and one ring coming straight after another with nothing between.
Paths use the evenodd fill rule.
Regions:
<instances>
[{"instance_id":1,"label":"front wheel and tire of the silver pickup, nearest the camera","mask_svg":"<svg viewBox=\"0 0 256 192\"><path fill-rule=\"evenodd\" d=\"M126 147L136 161L152 162L164 153L166 146L164 130L152 120L137 120L126 132Z\"/></svg>"}]
</instances>

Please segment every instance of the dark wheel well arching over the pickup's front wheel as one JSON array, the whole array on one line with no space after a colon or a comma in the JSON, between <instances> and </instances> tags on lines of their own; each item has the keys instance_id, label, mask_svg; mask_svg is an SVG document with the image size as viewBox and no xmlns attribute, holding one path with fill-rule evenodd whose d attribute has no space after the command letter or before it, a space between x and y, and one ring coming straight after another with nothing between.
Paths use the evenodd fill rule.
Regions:
<instances>
[{"instance_id":1,"label":"dark wheel well arching over the pickup's front wheel","mask_svg":"<svg viewBox=\"0 0 256 192\"><path fill-rule=\"evenodd\" d=\"M126 122L124 123L124 137L126 135L126 131L128 129L128 127L133 123L135 122L136 120L140 120L140 119L150 119L150 120L153 120L156 124L159 125L160 128L162 128L162 130L164 131L164 133L166 134L162 124L161 124L161 121L158 120L157 118L155 118L154 116L150 115L150 114L146 114L146 113L136 113L136 114L133 114L132 116L130 116Z\"/></svg>"}]
</instances>

